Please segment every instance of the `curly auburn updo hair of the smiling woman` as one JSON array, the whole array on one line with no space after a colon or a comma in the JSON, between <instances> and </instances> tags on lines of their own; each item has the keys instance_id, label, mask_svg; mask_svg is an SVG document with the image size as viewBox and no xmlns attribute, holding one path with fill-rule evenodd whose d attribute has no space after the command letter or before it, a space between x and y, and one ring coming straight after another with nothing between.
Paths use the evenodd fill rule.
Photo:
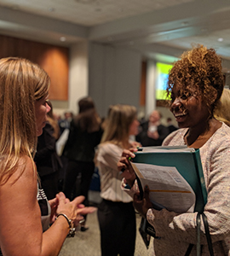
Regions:
<instances>
[{"instance_id":1,"label":"curly auburn updo hair of the smiling woman","mask_svg":"<svg viewBox=\"0 0 230 256\"><path fill-rule=\"evenodd\" d=\"M175 85L182 91L187 91L191 85L195 86L197 95L202 97L212 116L224 87L221 57L216 55L216 50L198 44L184 52L170 70L168 96Z\"/></svg>"}]
</instances>

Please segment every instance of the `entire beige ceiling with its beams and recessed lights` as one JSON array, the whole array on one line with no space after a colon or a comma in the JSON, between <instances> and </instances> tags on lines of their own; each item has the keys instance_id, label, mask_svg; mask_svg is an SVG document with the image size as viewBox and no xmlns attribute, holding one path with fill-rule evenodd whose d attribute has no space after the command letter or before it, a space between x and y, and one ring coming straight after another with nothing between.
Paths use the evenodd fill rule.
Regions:
<instances>
[{"instance_id":1,"label":"entire beige ceiling with its beams and recessed lights","mask_svg":"<svg viewBox=\"0 0 230 256\"><path fill-rule=\"evenodd\" d=\"M89 40L172 58L204 44L228 61L230 1L0 0L0 33L65 46Z\"/></svg>"}]
</instances>

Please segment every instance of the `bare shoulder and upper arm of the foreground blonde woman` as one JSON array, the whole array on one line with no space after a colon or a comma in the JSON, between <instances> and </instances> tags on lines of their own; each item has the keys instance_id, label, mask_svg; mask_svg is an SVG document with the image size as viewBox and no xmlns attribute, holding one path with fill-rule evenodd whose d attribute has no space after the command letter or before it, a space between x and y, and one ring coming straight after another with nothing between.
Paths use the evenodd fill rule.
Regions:
<instances>
[{"instance_id":1,"label":"bare shoulder and upper arm of the foreground blonde woman","mask_svg":"<svg viewBox=\"0 0 230 256\"><path fill-rule=\"evenodd\" d=\"M37 203L37 172L32 159L21 157L14 174L0 185L0 195L3 254L21 255L28 251L24 254L36 254L32 251L37 244L40 246L43 229Z\"/></svg>"}]
</instances>

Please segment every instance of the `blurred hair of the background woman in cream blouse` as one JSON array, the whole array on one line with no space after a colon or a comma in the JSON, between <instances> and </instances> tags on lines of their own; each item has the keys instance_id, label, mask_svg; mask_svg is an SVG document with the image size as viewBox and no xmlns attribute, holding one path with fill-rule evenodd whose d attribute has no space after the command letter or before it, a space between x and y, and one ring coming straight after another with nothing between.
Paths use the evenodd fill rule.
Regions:
<instances>
[{"instance_id":1,"label":"blurred hair of the background woman in cream blouse","mask_svg":"<svg viewBox=\"0 0 230 256\"><path fill-rule=\"evenodd\" d=\"M122 148L129 147L129 126L136 118L136 114L134 106L120 104L111 106L101 143L111 142Z\"/></svg>"}]
</instances>

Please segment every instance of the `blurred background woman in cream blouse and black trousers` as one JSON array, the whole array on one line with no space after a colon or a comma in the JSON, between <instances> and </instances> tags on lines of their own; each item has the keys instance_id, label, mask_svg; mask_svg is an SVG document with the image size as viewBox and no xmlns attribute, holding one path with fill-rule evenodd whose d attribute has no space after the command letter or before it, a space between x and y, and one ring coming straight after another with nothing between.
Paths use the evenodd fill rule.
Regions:
<instances>
[{"instance_id":1,"label":"blurred background woman in cream blouse and black trousers","mask_svg":"<svg viewBox=\"0 0 230 256\"><path fill-rule=\"evenodd\" d=\"M115 105L109 109L97 155L101 177L98 219L102 256L131 256L135 252L135 210L132 198L120 187L122 175L117 163L124 148L132 147L129 136L137 134L139 125L135 107Z\"/></svg>"}]
</instances>

